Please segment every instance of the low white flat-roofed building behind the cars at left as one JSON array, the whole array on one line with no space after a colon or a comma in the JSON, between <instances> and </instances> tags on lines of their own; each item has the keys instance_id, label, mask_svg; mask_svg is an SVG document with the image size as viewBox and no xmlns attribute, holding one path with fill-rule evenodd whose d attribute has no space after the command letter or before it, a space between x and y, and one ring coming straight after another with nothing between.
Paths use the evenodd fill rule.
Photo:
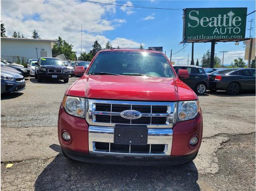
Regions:
<instances>
[{"instance_id":1,"label":"low white flat-roofed building behind the cars at left","mask_svg":"<svg viewBox=\"0 0 256 191\"><path fill-rule=\"evenodd\" d=\"M52 57L53 39L8 38L1 37L1 58L16 62L19 58Z\"/></svg>"}]
</instances>

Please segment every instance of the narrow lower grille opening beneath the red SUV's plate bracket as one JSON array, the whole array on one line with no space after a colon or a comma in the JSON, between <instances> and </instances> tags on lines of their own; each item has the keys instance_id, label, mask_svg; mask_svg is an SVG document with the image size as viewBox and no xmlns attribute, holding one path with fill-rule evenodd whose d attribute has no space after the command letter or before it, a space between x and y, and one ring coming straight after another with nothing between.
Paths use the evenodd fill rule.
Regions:
<instances>
[{"instance_id":1,"label":"narrow lower grille opening beneath the red SUV's plate bracket","mask_svg":"<svg viewBox=\"0 0 256 191\"><path fill-rule=\"evenodd\" d=\"M165 145L120 145L115 143L95 142L95 149L98 151L112 153L163 153Z\"/></svg>"}]
</instances>

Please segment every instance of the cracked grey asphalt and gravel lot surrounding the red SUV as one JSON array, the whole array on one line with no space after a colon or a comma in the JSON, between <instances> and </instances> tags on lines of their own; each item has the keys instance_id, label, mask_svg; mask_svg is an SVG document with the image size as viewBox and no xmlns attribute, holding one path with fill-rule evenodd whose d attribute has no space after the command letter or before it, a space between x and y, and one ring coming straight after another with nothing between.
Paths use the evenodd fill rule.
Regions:
<instances>
[{"instance_id":1,"label":"cracked grey asphalt and gravel lot surrounding the red SUV","mask_svg":"<svg viewBox=\"0 0 256 191\"><path fill-rule=\"evenodd\" d=\"M58 109L78 78L1 95L2 190L255 190L255 94L200 96L203 142L194 162L171 167L97 165L62 156ZM14 163L11 168L6 164Z\"/></svg>"}]
</instances>

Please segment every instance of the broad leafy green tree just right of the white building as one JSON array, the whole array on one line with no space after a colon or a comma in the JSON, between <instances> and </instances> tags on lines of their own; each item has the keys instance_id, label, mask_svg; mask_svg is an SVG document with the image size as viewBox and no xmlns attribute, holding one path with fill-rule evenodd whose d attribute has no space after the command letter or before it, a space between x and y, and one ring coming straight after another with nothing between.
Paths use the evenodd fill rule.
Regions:
<instances>
[{"instance_id":1,"label":"broad leafy green tree just right of the white building","mask_svg":"<svg viewBox=\"0 0 256 191\"><path fill-rule=\"evenodd\" d=\"M76 60L76 52L72 50L73 45L68 44L60 36L56 40L58 43L55 43L52 47L52 56L56 57L60 54L64 54L67 60Z\"/></svg>"}]
</instances>

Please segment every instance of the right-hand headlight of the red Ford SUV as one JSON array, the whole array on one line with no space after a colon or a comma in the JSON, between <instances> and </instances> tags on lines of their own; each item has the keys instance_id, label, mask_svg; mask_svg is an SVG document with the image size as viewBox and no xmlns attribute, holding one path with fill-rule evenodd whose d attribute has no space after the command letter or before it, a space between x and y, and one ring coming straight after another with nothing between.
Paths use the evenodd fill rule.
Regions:
<instances>
[{"instance_id":1,"label":"right-hand headlight of the red Ford SUV","mask_svg":"<svg viewBox=\"0 0 256 191\"><path fill-rule=\"evenodd\" d=\"M178 121L186 121L196 117L200 111L199 100L178 102Z\"/></svg>"}]
</instances>

